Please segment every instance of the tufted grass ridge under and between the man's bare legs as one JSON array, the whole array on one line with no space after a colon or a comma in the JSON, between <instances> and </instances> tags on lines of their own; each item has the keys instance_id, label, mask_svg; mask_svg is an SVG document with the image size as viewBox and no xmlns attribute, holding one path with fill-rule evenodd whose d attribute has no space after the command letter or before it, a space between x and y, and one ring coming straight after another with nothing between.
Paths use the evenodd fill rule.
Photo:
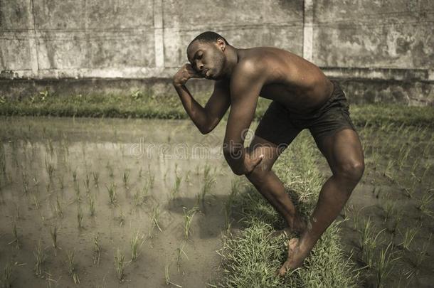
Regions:
<instances>
[{"instance_id":1,"label":"tufted grass ridge under and between the man's bare legs","mask_svg":"<svg viewBox=\"0 0 434 288\"><path fill-rule=\"evenodd\" d=\"M273 171L305 217L317 203L325 178L316 168L319 154L306 131L300 133L281 154ZM319 239L305 266L288 272L285 278L275 271L285 262L285 238L270 238L274 228L282 228L282 218L250 183L242 183L229 197L240 211L244 228L223 238L223 277L221 287L356 287L359 273L343 255L339 239L339 221L335 221Z\"/></svg>"}]
</instances>

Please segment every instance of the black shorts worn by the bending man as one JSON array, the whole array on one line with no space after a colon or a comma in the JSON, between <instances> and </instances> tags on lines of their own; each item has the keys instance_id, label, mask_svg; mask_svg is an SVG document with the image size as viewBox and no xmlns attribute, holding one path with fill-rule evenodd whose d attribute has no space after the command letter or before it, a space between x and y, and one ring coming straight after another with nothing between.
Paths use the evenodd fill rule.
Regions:
<instances>
[{"instance_id":1,"label":"black shorts worn by the bending man","mask_svg":"<svg viewBox=\"0 0 434 288\"><path fill-rule=\"evenodd\" d=\"M286 148L306 128L316 142L347 127L356 131L349 117L349 103L345 93L337 82L332 82L332 96L322 107L312 112L289 112L279 102L272 101L260 120L255 135Z\"/></svg>"}]
</instances>

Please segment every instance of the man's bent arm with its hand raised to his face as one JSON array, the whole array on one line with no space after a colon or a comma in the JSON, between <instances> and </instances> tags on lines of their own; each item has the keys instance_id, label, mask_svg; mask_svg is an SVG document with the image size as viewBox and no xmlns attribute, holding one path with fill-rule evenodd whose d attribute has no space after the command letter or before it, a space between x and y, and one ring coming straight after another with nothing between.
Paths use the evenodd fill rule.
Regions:
<instances>
[{"instance_id":1,"label":"man's bent arm with its hand raised to his face","mask_svg":"<svg viewBox=\"0 0 434 288\"><path fill-rule=\"evenodd\" d=\"M211 97L208 102L206 102L205 107L202 107L198 102L196 102L196 100L194 100L185 86L185 82L188 78L201 77L201 75L196 74L194 70L192 70L192 68L190 70L190 68L191 66L184 68L186 69L184 72L180 70L184 75L175 75L173 85L191 120L202 134L207 134L217 126L231 105L228 80L218 80L215 82ZM188 77L186 74L190 74L191 76Z\"/></svg>"}]
</instances>

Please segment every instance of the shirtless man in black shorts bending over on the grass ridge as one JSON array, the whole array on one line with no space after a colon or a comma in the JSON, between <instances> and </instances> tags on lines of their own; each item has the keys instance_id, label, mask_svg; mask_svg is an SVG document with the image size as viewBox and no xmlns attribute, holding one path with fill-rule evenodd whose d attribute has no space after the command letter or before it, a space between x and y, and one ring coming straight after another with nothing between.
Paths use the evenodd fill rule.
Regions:
<instances>
[{"instance_id":1,"label":"shirtless man in black shorts bending over on the grass ridge","mask_svg":"<svg viewBox=\"0 0 434 288\"><path fill-rule=\"evenodd\" d=\"M241 49L218 33L196 36L187 48L185 64L173 85L182 105L201 133L211 132L231 105L223 155L233 173L245 175L285 218L286 262L277 272L302 266L324 230L337 218L364 173L359 135L349 117L349 104L337 82L309 61L272 47ZM185 84L189 78L215 80L214 90L201 107ZM250 127L258 97L273 100L255 130L248 148L244 133ZM309 220L302 219L282 182L271 170L277 157L302 129L309 129L327 159L332 176L322 186Z\"/></svg>"}]
</instances>

